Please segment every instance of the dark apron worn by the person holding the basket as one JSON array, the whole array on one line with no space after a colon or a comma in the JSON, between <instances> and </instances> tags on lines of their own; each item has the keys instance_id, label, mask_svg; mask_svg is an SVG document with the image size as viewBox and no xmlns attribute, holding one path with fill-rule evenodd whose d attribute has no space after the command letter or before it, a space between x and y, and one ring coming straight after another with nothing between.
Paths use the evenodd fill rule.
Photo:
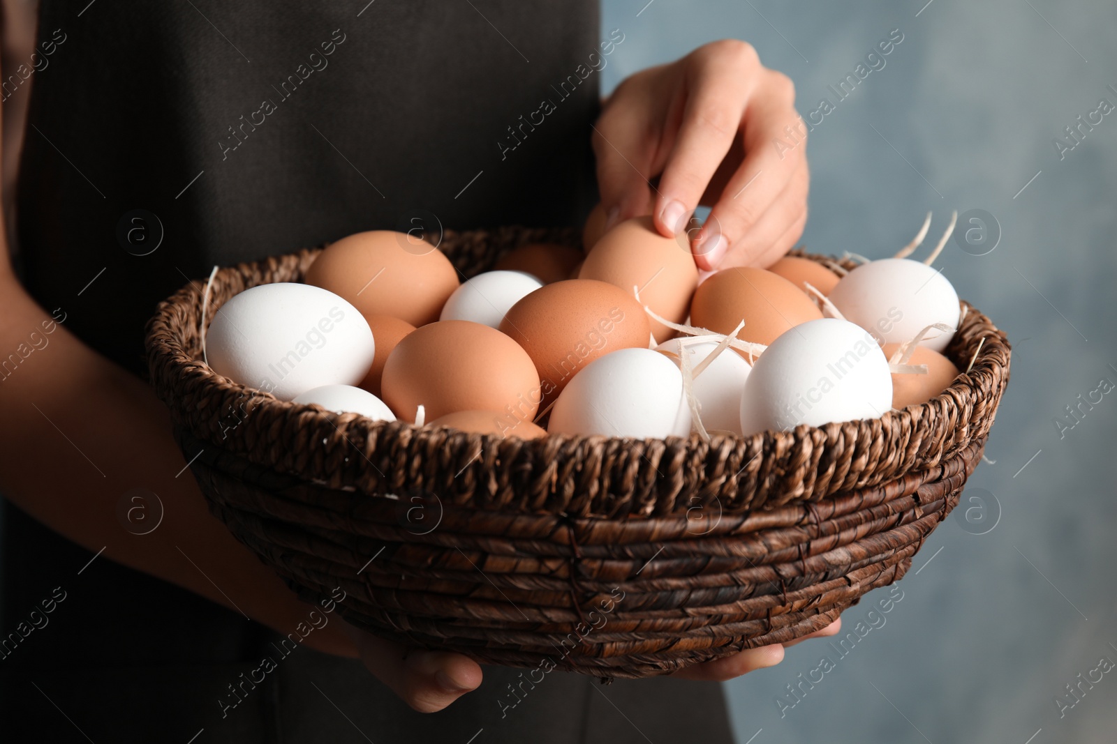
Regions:
<instances>
[{"instance_id":1,"label":"dark apron worn by the person holding the basket","mask_svg":"<svg viewBox=\"0 0 1117 744\"><path fill-rule=\"evenodd\" d=\"M50 64L31 90L17 270L84 342L145 376L155 303L213 264L416 216L579 224L595 200L600 69L623 44L599 39L598 12L596 0L42 0ZM424 716L359 661L306 648L225 709L271 630L104 558L77 574L93 553L10 504L2 548L3 634L65 595L48 625L0 644L6 741L731 741L714 684L555 673L503 711L515 673L486 667L478 690Z\"/></svg>"}]
</instances>

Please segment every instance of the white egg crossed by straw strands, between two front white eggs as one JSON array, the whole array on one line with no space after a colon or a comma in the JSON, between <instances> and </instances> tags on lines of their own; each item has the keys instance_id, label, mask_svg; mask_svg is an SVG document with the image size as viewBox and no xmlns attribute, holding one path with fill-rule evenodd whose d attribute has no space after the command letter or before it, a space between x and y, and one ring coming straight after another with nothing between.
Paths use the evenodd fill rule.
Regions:
<instances>
[{"instance_id":1,"label":"white egg crossed by straw strands, between two front white eggs","mask_svg":"<svg viewBox=\"0 0 1117 744\"><path fill-rule=\"evenodd\" d=\"M674 355L689 355L690 369L701 364L717 348L719 338L708 341L691 341L682 345L682 339L663 341L656 349ZM745 392L745 380L752 367L733 349L725 349L714 357L706 369L695 378L694 394L698 399L701 423L707 429L722 429L741 434L741 395Z\"/></svg>"}]
</instances>

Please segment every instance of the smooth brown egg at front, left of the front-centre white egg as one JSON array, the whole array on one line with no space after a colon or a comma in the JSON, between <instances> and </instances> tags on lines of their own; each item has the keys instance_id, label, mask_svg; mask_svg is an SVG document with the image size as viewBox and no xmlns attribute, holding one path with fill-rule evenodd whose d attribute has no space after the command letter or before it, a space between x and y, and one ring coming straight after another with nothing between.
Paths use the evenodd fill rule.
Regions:
<instances>
[{"instance_id":1,"label":"smooth brown egg at front, left of the front-centre white egg","mask_svg":"<svg viewBox=\"0 0 1117 744\"><path fill-rule=\"evenodd\" d=\"M392 413L408 422L420 405L428 419L498 410L532 421L541 397L540 376L524 349L468 320L441 320L404 336L388 355L380 387Z\"/></svg>"}]
</instances>

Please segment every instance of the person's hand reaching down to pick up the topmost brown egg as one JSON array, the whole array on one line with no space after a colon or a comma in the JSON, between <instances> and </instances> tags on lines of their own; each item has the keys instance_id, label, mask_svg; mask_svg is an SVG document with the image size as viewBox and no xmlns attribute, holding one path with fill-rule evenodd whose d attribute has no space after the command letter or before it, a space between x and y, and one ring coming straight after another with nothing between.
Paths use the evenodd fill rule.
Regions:
<instances>
[{"instance_id":1,"label":"person's hand reaching down to pick up the topmost brown egg","mask_svg":"<svg viewBox=\"0 0 1117 744\"><path fill-rule=\"evenodd\" d=\"M675 235L697 206L713 206L688 231L699 269L774 263L806 222L806 127L794 99L787 76L733 39L627 78L593 133L607 225L651 203L656 228Z\"/></svg>"}]
</instances>

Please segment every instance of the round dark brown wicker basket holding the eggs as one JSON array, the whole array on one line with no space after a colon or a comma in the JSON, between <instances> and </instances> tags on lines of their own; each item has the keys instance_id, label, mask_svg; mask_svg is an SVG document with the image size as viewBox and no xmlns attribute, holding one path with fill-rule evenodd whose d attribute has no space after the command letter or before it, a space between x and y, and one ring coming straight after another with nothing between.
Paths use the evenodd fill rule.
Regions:
<instances>
[{"instance_id":1,"label":"round dark brown wicker basket holding the eggs","mask_svg":"<svg viewBox=\"0 0 1117 744\"><path fill-rule=\"evenodd\" d=\"M448 232L465 276L569 230ZM317 250L217 272L207 317L298 281ZM965 306L947 349L972 369L881 418L710 442L502 439L277 400L201 361L202 292L160 305L151 378L211 511L302 598L483 663L666 674L818 630L900 579L958 501L1010 349ZM982 342L983 341L983 342ZM978 345L980 350L978 350Z\"/></svg>"}]
</instances>

